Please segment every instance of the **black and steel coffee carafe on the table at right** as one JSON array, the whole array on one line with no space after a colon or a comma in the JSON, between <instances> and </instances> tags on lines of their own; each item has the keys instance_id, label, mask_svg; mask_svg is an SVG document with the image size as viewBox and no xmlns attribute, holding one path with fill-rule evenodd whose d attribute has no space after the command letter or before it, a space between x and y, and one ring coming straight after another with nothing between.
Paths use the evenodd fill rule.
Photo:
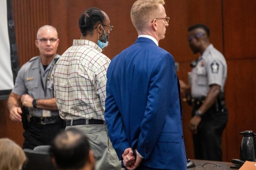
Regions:
<instances>
[{"instance_id":1,"label":"black and steel coffee carafe on the table at right","mask_svg":"<svg viewBox=\"0 0 256 170\"><path fill-rule=\"evenodd\" d=\"M239 134L243 135L240 148L240 159L256 162L256 134L251 130L243 131Z\"/></svg>"}]
</instances>

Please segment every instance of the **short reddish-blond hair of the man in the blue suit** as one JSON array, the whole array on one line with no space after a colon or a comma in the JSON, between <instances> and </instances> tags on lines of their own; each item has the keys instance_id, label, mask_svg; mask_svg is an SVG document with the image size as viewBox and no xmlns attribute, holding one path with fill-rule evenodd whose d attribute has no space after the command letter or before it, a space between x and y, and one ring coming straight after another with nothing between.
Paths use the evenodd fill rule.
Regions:
<instances>
[{"instance_id":1,"label":"short reddish-blond hair of the man in the blue suit","mask_svg":"<svg viewBox=\"0 0 256 170\"><path fill-rule=\"evenodd\" d=\"M131 21L137 30L143 30L159 14L159 4L164 0L137 0L131 7Z\"/></svg>"}]
</instances>

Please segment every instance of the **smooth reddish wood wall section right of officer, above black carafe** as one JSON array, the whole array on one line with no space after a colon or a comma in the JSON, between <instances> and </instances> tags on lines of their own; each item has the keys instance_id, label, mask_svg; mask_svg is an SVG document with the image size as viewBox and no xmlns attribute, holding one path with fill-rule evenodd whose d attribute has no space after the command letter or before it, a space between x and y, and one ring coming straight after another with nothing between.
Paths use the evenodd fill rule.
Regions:
<instances>
[{"instance_id":1,"label":"smooth reddish wood wall section right of officer, above black carafe","mask_svg":"<svg viewBox=\"0 0 256 170\"><path fill-rule=\"evenodd\" d=\"M256 1L223 1L223 44L228 72L226 160L239 158L244 130L256 130Z\"/></svg>"}]
</instances>

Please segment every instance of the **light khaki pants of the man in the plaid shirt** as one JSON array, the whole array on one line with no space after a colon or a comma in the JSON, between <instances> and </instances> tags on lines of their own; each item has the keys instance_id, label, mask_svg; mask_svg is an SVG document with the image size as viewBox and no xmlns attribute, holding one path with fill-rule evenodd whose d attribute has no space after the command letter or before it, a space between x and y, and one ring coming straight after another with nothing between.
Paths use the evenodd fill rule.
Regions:
<instances>
[{"instance_id":1,"label":"light khaki pants of the man in the plaid shirt","mask_svg":"<svg viewBox=\"0 0 256 170\"><path fill-rule=\"evenodd\" d=\"M88 137L96 160L95 170L121 169L121 161L110 142L107 125L67 126L66 130L69 128L79 129Z\"/></svg>"}]
</instances>

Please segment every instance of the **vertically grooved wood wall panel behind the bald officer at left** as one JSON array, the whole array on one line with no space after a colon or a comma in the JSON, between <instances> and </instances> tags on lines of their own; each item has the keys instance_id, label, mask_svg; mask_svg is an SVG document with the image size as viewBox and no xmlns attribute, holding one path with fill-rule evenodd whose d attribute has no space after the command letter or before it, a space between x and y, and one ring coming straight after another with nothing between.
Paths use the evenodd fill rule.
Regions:
<instances>
[{"instance_id":1,"label":"vertically grooved wood wall panel behind the bald officer at left","mask_svg":"<svg viewBox=\"0 0 256 170\"><path fill-rule=\"evenodd\" d=\"M49 24L49 0L13 0L16 43L20 65L38 55L37 30Z\"/></svg>"}]
</instances>

